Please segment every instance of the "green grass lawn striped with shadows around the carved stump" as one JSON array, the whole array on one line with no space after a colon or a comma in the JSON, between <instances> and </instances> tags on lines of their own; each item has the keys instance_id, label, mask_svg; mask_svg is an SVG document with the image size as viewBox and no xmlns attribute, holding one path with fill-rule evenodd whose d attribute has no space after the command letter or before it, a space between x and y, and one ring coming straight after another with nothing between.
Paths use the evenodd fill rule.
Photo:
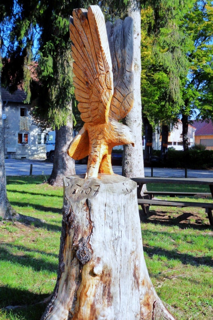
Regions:
<instances>
[{"instance_id":1,"label":"green grass lawn striped with shadows around the carved stump","mask_svg":"<svg viewBox=\"0 0 213 320\"><path fill-rule=\"evenodd\" d=\"M40 220L31 225L0 222L1 320L40 320L45 305L38 302L48 297L55 286L63 190L41 184L43 179L7 179L8 198L14 209ZM164 188L169 190L168 185L148 186L149 190ZM198 191L183 185L171 188ZM199 192L209 190L201 187ZM205 210L151 207L141 231L149 275L171 313L177 320L212 320L213 230ZM4 307L9 305L24 308L7 312Z\"/></svg>"}]
</instances>

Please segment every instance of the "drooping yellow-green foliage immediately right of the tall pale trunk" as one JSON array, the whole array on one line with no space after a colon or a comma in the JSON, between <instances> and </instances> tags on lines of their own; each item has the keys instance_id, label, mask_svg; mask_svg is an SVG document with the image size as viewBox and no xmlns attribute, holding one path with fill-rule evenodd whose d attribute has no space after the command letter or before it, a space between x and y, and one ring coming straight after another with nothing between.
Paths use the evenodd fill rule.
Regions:
<instances>
[{"instance_id":1,"label":"drooping yellow-green foliage immediately right of the tall pale trunk","mask_svg":"<svg viewBox=\"0 0 213 320\"><path fill-rule=\"evenodd\" d=\"M177 120L182 99L181 78L191 45L182 19L193 1L145 1L141 11L141 94L143 114L151 123ZM147 55L148 53L148 55Z\"/></svg>"}]
</instances>

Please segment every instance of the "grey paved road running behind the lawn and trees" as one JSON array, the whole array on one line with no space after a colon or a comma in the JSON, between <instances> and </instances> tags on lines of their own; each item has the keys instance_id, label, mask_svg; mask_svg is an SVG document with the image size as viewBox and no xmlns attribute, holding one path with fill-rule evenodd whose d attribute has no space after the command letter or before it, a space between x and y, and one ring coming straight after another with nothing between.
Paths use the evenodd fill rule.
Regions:
<instances>
[{"instance_id":1,"label":"grey paved road running behind the lawn and trees","mask_svg":"<svg viewBox=\"0 0 213 320\"><path fill-rule=\"evenodd\" d=\"M16 160L5 159L6 175L29 175L30 164L33 164L33 175L50 175L52 172L52 163L45 162L45 160ZM87 169L86 164L76 164L76 174L85 173ZM113 166L114 173L121 174L120 166ZM213 170L188 170L188 178L213 178ZM151 168L145 168L145 177L151 176ZM184 169L169 169L169 168L154 168L154 177L176 177L184 178Z\"/></svg>"}]
</instances>

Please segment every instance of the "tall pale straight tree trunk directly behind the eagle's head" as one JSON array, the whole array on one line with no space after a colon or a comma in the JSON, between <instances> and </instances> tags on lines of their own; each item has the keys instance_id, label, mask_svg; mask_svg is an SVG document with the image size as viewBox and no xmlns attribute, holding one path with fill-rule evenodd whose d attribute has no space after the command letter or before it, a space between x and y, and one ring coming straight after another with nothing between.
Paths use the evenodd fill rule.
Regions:
<instances>
[{"instance_id":1,"label":"tall pale straight tree trunk directly behind the eagle's head","mask_svg":"<svg viewBox=\"0 0 213 320\"><path fill-rule=\"evenodd\" d=\"M134 24L134 105L125 117L124 123L133 132L135 146L124 146L122 175L133 178L144 177L141 113L141 8L139 1L131 1L129 16L133 18Z\"/></svg>"}]
</instances>

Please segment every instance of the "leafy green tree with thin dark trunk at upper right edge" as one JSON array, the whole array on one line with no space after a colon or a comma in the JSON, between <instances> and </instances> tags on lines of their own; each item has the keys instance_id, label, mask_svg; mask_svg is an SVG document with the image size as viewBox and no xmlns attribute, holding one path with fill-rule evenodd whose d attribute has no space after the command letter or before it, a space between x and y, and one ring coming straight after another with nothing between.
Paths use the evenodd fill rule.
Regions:
<instances>
[{"instance_id":1,"label":"leafy green tree with thin dark trunk at upper right edge","mask_svg":"<svg viewBox=\"0 0 213 320\"><path fill-rule=\"evenodd\" d=\"M185 32L191 37L193 47L187 52L190 68L182 79L184 105L180 108L185 127L191 116L213 120L213 4L211 1L196 1L185 15ZM184 133L183 133L184 135ZM184 146L187 150L187 142Z\"/></svg>"}]
</instances>

